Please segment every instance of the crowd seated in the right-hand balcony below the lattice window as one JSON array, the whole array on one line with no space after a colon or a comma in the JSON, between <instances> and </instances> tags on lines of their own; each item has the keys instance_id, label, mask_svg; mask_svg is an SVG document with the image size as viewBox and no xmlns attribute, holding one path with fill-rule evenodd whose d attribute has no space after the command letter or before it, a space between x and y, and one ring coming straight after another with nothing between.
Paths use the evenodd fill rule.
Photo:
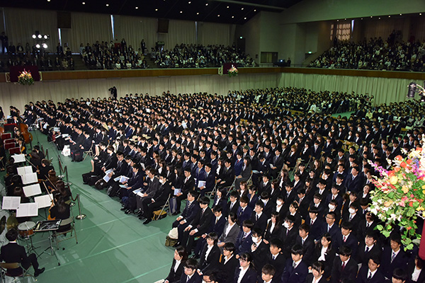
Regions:
<instances>
[{"instance_id":1,"label":"crowd seated in the right-hand balcony below the lattice window","mask_svg":"<svg viewBox=\"0 0 425 283\"><path fill-rule=\"evenodd\" d=\"M330 69L373 69L425 71L425 41L403 42L370 38L362 42L338 42L310 63L309 67Z\"/></svg>"}]
</instances>

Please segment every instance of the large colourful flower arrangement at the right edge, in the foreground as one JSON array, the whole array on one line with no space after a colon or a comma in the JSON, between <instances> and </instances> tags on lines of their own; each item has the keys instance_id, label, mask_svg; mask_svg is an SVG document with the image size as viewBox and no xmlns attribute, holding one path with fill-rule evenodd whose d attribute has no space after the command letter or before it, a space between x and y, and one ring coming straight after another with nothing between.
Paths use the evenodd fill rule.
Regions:
<instances>
[{"instance_id":1,"label":"large colourful flower arrangement at the right edge, in the foreground","mask_svg":"<svg viewBox=\"0 0 425 283\"><path fill-rule=\"evenodd\" d=\"M373 180L376 189L370 192L372 204L368 210L383 222L376 229L385 237L395 226L402 227L404 250L412 250L413 241L421 239L416 233L416 219L425 219L425 150L418 147L404 154L407 157L395 157L389 171L370 162L380 178Z\"/></svg>"}]
</instances>

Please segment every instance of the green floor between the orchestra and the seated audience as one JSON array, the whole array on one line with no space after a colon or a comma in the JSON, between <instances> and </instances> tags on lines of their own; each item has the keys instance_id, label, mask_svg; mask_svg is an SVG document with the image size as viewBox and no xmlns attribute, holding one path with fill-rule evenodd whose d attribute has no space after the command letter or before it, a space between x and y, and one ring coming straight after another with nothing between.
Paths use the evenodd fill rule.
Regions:
<instances>
[{"instance_id":1,"label":"green floor between the orchestra and the seated audience","mask_svg":"<svg viewBox=\"0 0 425 283\"><path fill-rule=\"evenodd\" d=\"M47 142L45 135L38 131L32 134L33 145L40 141L59 171L58 151ZM111 199L104 190L83 184L81 174L91 170L90 158L80 163L71 162L71 158L62 155L61 159L68 168L73 196L80 195L81 212L86 214L86 219L76 220L78 244L70 239L61 242L60 250L56 250L60 266L54 255L40 255L40 267L46 270L38 277L38 282L151 283L166 277L174 249L164 243L176 216L143 225L136 216L120 211L117 198ZM4 173L0 178L3 176ZM72 214L79 214L77 205L72 207ZM39 216L32 221L43 220L44 216L44 209L39 209ZM41 253L49 247L48 233L35 233L33 243L39 247L36 252Z\"/></svg>"}]
</instances>

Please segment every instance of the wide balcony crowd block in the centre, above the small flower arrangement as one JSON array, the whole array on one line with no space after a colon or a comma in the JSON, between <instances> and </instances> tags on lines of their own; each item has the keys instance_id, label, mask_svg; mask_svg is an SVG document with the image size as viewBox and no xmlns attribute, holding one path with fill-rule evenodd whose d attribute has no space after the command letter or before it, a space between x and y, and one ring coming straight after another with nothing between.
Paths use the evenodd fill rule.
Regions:
<instances>
[{"instance_id":1,"label":"wide balcony crowd block in the centre, above the small flower arrangement","mask_svg":"<svg viewBox=\"0 0 425 283\"><path fill-rule=\"evenodd\" d=\"M249 54L240 52L235 45L176 45L172 50L152 50L151 57L160 68L203 68L220 67L226 62L239 67L255 67Z\"/></svg>"}]
</instances>

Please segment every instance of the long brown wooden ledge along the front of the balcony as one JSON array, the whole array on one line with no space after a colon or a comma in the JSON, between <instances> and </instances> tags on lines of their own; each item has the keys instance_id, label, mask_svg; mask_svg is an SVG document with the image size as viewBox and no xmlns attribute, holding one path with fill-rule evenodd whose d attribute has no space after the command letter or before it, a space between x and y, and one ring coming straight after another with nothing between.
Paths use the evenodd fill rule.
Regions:
<instances>
[{"instance_id":1,"label":"long brown wooden ledge along the front of the balcony","mask_svg":"<svg viewBox=\"0 0 425 283\"><path fill-rule=\"evenodd\" d=\"M144 76L210 76L218 75L218 68L199 69L137 69L137 70L96 70L96 71L42 71L43 81L60 81L72 79L111 79L136 78ZM386 79L424 80L425 73L413 71L374 71L351 69L317 69L293 67L250 67L239 68L239 74L321 74L333 76L364 76ZM225 75L227 76L227 75ZM6 82L6 73L0 73L0 82Z\"/></svg>"}]
</instances>

